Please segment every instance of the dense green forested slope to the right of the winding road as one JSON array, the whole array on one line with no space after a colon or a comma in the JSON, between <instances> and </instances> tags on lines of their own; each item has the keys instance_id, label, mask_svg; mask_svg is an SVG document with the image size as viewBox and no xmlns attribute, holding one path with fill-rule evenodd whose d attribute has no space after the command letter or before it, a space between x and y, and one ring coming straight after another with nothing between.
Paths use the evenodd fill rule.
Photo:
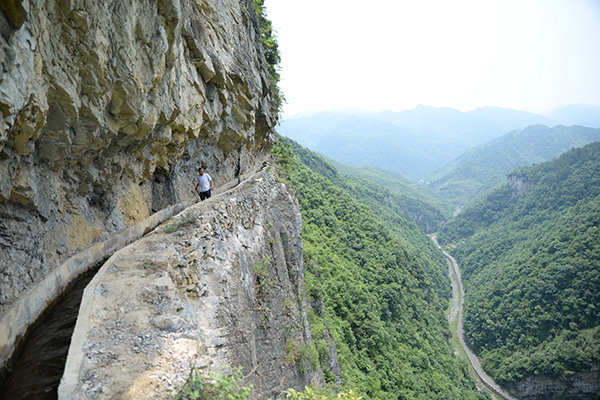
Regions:
<instances>
[{"instance_id":1,"label":"dense green forested slope to the right of the winding road","mask_svg":"<svg viewBox=\"0 0 600 400\"><path fill-rule=\"evenodd\" d=\"M600 143L518 169L445 225L464 327L500 382L600 365Z\"/></svg>"}]
</instances>

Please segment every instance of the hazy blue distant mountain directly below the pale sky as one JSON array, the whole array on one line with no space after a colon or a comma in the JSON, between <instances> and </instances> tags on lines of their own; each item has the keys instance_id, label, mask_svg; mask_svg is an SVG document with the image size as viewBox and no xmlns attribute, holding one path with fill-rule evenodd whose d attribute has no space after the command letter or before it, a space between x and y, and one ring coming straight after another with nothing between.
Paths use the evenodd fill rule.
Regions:
<instances>
[{"instance_id":1,"label":"hazy blue distant mountain directly below the pale sky","mask_svg":"<svg viewBox=\"0 0 600 400\"><path fill-rule=\"evenodd\" d=\"M465 113L419 106L402 112L338 110L286 118L278 131L344 164L374 165L418 181L472 146L527 125L558 123L498 107Z\"/></svg>"}]
</instances>

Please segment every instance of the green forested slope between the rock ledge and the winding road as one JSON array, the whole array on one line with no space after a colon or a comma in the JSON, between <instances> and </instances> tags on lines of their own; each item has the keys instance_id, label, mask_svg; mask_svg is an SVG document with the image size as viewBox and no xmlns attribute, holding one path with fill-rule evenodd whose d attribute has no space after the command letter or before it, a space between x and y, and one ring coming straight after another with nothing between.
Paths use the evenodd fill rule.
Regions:
<instances>
[{"instance_id":1,"label":"green forested slope between the rock ledge and the winding road","mask_svg":"<svg viewBox=\"0 0 600 400\"><path fill-rule=\"evenodd\" d=\"M300 202L309 324L327 379L325 326L343 385L364 399L486 398L448 343L447 265L429 239L400 216L380 216L393 219L389 229L350 193L375 191L360 191L285 138L273 155Z\"/></svg>"}]
</instances>

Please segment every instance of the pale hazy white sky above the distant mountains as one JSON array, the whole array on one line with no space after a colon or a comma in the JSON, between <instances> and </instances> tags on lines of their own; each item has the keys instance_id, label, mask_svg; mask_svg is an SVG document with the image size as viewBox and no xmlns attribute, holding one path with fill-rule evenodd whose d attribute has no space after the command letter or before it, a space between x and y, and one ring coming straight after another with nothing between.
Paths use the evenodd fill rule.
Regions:
<instances>
[{"instance_id":1,"label":"pale hazy white sky above the distant mountains","mask_svg":"<svg viewBox=\"0 0 600 400\"><path fill-rule=\"evenodd\" d=\"M266 0L284 115L600 104L600 0Z\"/></svg>"}]
</instances>

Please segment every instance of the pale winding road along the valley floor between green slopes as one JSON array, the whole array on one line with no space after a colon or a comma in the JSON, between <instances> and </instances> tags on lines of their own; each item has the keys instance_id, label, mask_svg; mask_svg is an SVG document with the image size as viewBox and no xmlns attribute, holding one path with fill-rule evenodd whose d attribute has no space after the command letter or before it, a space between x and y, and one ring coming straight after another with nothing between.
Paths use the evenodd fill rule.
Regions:
<instances>
[{"instance_id":1,"label":"pale winding road along the valley floor between green slopes","mask_svg":"<svg viewBox=\"0 0 600 400\"><path fill-rule=\"evenodd\" d=\"M437 237L434 235L431 237L435 245L444 253L446 258L448 259L448 263L450 268L453 269L454 274L450 273L450 279L452 280L452 301L453 307L450 315L448 316L448 322L454 321L454 319L458 316L458 340L460 341L460 345L464 349L465 353L469 357L469 361L471 365L473 365L473 369L477 373L477 376L481 380L481 382L487 386L491 391L493 391L498 396L502 397L506 400L518 400L516 397L511 396L506 390L502 389L500 386L496 384L490 378L483 368L481 368L481 364L479 364L479 360L475 357L475 354L469 349L467 344L465 343L465 336L463 332L463 300L465 298L465 291L462 285L462 278L460 276L460 270L458 269L458 263L450 254L448 254L437 242Z\"/></svg>"}]
</instances>

